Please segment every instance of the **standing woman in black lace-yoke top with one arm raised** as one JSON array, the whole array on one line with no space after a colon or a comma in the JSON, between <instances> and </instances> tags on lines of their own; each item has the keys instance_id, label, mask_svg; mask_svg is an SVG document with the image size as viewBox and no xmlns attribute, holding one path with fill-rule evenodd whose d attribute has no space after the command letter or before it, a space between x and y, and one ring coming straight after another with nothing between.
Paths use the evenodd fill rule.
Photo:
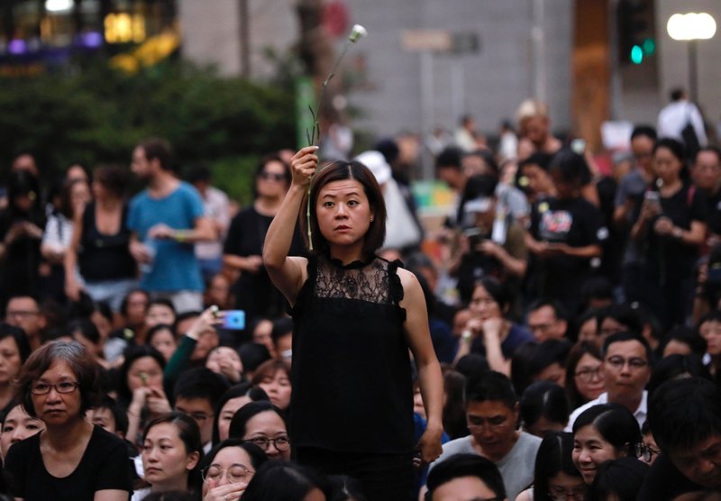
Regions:
<instances>
[{"instance_id":1,"label":"standing woman in black lace-yoke top with one arm raised","mask_svg":"<svg viewBox=\"0 0 721 501\"><path fill-rule=\"evenodd\" d=\"M291 160L291 187L263 248L295 323L290 433L296 457L325 474L358 478L369 499L408 499L414 473L408 349L428 417L417 444L421 460L439 456L443 432L443 378L423 291L412 273L375 255L386 208L370 170L336 161L316 174L316 150L306 147ZM309 258L287 255L301 210Z\"/></svg>"}]
</instances>

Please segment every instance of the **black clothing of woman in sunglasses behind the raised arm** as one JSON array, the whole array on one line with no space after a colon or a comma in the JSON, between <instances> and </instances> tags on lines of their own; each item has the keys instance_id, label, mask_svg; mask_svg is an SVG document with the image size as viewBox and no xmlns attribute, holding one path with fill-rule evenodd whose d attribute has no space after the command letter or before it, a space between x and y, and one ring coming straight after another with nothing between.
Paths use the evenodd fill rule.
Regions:
<instances>
[{"instance_id":1,"label":"black clothing of woman in sunglasses behind the raised arm","mask_svg":"<svg viewBox=\"0 0 721 501\"><path fill-rule=\"evenodd\" d=\"M261 256L263 242L273 216L262 215L252 205L243 209L231 222L223 253L234 256ZM288 255L300 256L304 244L296 225ZM287 310L287 301L273 285L264 267L256 272L243 271L233 286L235 307L245 311L246 323L258 317L275 318Z\"/></svg>"}]
</instances>

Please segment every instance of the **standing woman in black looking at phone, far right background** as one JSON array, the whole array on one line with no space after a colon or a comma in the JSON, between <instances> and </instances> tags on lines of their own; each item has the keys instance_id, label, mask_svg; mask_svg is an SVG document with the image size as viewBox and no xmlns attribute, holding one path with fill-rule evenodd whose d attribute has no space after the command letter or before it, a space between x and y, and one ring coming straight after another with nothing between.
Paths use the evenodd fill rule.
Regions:
<instances>
[{"instance_id":1,"label":"standing woman in black looking at phone, far right background","mask_svg":"<svg viewBox=\"0 0 721 501\"><path fill-rule=\"evenodd\" d=\"M685 323L693 298L693 267L706 238L704 196L689 182L683 145L664 138L653 147L656 182L646 191L631 231L643 248L643 303L664 329Z\"/></svg>"}]
</instances>

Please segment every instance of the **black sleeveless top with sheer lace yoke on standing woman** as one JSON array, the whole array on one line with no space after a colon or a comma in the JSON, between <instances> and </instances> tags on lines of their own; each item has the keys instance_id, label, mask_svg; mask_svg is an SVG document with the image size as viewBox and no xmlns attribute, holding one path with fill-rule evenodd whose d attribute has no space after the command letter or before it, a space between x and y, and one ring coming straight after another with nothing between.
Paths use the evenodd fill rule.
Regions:
<instances>
[{"instance_id":1,"label":"black sleeveless top with sheer lace yoke on standing woman","mask_svg":"<svg viewBox=\"0 0 721 501\"><path fill-rule=\"evenodd\" d=\"M398 261L312 256L294 319L290 437L331 451L414 447L413 386Z\"/></svg>"}]
</instances>

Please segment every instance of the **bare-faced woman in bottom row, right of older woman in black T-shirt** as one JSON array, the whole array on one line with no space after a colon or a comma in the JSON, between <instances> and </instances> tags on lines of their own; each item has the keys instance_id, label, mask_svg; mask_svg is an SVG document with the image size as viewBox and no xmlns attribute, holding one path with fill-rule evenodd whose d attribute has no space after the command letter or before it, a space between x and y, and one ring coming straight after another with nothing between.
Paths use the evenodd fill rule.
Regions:
<instances>
[{"instance_id":1,"label":"bare-faced woman in bottom row, right of older woman in black T-shirt","mask_svg":"<svg viewBox=\"0 0 721 501\"><path fill-rule=\"evenodd\" d=\"M178 412L160 416L146 426L142 436L142 475L151 484L148 492L199 490L198 463L203 455L196 421Z\"/></svg>"}]
</instances>

